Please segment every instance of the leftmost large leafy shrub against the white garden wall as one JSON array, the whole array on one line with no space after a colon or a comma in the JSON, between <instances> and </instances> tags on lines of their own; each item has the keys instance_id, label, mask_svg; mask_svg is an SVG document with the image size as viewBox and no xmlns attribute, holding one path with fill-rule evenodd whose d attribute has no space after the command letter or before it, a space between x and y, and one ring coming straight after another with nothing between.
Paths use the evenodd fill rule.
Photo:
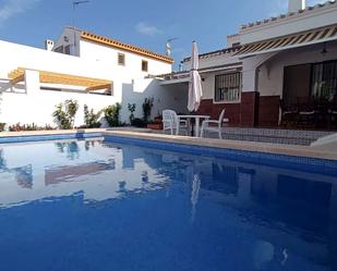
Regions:
<instances>
[{"instance_id":1,"label":"leftmost large leafy shrub against the white garden wall","mask_svg":"<svg viewBox=\"0 0 337 271\"><path fill-rule=\"evenodd\" d=\"M74 126L77 110L79 103L76 100L65 100L63 103L56 106L52 116L60 128L70 130Z\"/></svg>"}]
</instances>

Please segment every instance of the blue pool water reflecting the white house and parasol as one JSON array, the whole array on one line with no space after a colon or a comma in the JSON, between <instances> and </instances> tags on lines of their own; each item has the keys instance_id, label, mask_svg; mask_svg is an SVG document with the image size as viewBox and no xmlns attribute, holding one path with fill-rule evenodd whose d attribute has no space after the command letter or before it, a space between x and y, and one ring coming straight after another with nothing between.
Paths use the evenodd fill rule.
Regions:
<instances>
[{"instance_id":1,"label":"blue pool water reflecting the white house and parasol","mask_svg":"<svg viewBox=\"0 0 337 271\"><path fill-rule=\"evenodd\" d=\"M337 176L255 160L0 145L0 270L337 270Z\"/></svg>"}]
</instances>

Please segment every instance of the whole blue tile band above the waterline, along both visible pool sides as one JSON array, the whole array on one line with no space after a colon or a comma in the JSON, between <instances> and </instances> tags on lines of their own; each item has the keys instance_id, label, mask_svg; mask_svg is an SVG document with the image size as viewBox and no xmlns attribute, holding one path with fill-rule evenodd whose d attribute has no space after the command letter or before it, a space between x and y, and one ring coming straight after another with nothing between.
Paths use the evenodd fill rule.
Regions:
<instances>
[{"instance_id":1,"label":"whole blue tile band above the waterline, along both visible pool sides","mask_svg":"<svg viewBox=\"0 0 337 271\"><path fill-rule=\"evenodd\" d=\"M43 140L61 140L61 139L84 139L103 137L103 133L73 133L57 135L32 135L32 136L9 136L0 137L0 144L8 143L25 143L25 141L43 141ZM119 143L135 145L140 147L163 149L168 151L178 151L195 156L204 156L220 159L230 159L254 164L270 165L277 168L286 168L301 170L306 172L322 173L326 175L337 176L337 161L327 159L316 159L308 157L293 157L286 155L266 153L260 151L248 151L215 147L203 147L189 144L167 143L156 139L139 139L115 135L105 135L108 143Z\"/></svg>"}]
</instances>

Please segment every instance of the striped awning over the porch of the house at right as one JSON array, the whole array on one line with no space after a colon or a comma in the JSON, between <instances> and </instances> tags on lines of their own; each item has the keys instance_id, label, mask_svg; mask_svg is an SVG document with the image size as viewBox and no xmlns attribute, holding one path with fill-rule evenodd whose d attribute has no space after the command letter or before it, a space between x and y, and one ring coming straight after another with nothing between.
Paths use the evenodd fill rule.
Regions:
<instances>
[{"instance_id":1,"label":"striped awning over the porch of the house at right","mask_svg":"<svg viewBox=\"0 0 337 271\"><path fill-rule=\"evenodd\" d=\"M258 42L243 45L234 54L239 57L251 57L260 53L275 52L308 45L314 45L337 39L337 25L311 29L285 37L273 38Z\"/></svg>"}]
</instances>

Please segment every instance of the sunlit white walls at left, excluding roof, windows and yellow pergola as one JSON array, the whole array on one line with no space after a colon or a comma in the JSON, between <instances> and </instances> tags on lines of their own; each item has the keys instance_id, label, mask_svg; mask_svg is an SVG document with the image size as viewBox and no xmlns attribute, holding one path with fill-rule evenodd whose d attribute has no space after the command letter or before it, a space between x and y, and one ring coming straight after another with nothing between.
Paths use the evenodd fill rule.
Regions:
<instances>
[{"instance_id":1,"label":"sunlit white walls at left, excluding roof, windows and yellow pergola","mask_svg":"<svg viewBox=\"0 0 337 271\"><path fill-rule=\"evenodd\" d=\"M11 87L5 81L0 81L0 93L2 93L0 122L8 124L34 122L38 125L55 125L51 118L55 106L67 99L75 99L80 103L75 125L83 124L84 104L97 111L109 104L120 102L123 106L121 120L128 121L128 102L136 102L139 110L141 110L144 98L153 96L155 102L160 101L160 104L155 104L154 108L154 114L157 114L156 110L169 107L168 103L172 101L169 98L170 93L160 89L155 79L144 78L148 73L169 73L171 71L169 63L125 53L125 66L119 66L117 64L117 50L87 41L81 41L81 54L85 57L72 57L0 40L0 78L8 78L8 73L17 67L25 67L32 71L49 71L113 82L113 95L100 96L85 93L40 90L40 84L37 82L38 75L35 75L35 83L31 78L27 85L21 83L15 87ZM148 60L148 73L141 70L142 59ZM34 72L32 73L33 75L31 75L34 77ZM26 87L28 89L25 89ZM83 90L81 87L77 88L77 90L81 89ZM142 113L139 112L137 116L142 116Z\"/></svg>"}]
</instances>

